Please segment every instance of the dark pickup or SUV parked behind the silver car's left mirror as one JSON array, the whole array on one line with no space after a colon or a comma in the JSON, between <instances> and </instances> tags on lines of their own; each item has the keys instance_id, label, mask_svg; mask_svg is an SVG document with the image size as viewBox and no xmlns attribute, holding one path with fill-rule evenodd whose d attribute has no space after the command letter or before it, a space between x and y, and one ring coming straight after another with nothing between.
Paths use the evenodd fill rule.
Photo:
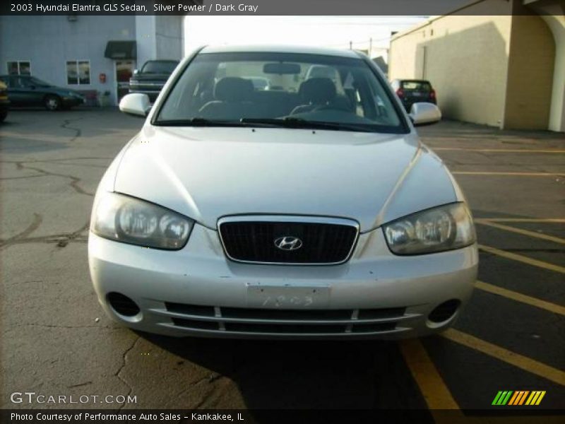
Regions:
<instances>
[{"instance_id":1,"label":"dark pickup or SUV parked behind the silver car's left mirror","mask_svg":"<svg viewBox=\"0 0 565 424\"><path fill-rule=\"evenodd\" d=\"M136 71L129 80L130 93L143 93L154 102L163 86L177 67L177 60L148 60L141 70Z\"/></svg>"}]
</instances>

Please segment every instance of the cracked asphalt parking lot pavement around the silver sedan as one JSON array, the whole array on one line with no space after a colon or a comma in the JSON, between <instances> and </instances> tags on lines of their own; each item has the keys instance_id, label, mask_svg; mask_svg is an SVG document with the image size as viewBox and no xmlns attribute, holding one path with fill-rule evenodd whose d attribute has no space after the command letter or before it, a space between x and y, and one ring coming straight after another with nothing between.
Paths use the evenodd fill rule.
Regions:
<instances>
[{"instance_id":1,"label":"cracked asphalt parking lot pavement around the silver sedan","mask_svg":"<svg viewBox=\"0 0 565 424\"><path fill-rule=\"evenodd\" d=\"M13 111L0 126L1 407L57 406L12 404L14 391L136 396L69 407L514 408L518 416L525 406L492 406L498 391L545 391L530 409L564 407L563 134L457 122L420 129L477 220L479 281L453 329L398 343L281 343L141 335L102 314L88 277L90 206L141 124L114 110L73 110Z\"/></svg>"}]
</instances>

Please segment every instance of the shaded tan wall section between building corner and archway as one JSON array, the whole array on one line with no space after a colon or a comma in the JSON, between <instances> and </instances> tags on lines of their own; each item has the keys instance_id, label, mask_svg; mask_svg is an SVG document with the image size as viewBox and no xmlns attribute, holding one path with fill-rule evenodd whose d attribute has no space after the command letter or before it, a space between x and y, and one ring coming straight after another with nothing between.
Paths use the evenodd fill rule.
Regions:
<instances>
[{"instance_id":1,"label":"shaded tan wall section between building corner and archway","mask_svg":"<svg viewBox=\"0 0 565 424\"><path fill-rule=\"evenodd\" d=\"M540 16L513 16L504 128L547 129L555 42Z\"/></svg>"}]
</instances>

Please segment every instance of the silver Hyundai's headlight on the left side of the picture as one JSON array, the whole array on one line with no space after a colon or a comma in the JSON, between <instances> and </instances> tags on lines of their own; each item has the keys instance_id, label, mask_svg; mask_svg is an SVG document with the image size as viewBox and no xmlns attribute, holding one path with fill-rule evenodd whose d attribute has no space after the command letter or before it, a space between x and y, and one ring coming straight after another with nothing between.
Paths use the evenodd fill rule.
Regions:
<instances>
[{"instance_id":1,"label":"silver Hyundai's headlight on the left side of the picture","mask_svg":"<svg viewBox=\"0 0 565 424\"><path fill-rule=\"evenodd\" d=\"M100 237L157 249L181 249L194 220L162 206L116 193L97 201L90 230Z\"/></svg>"}]
</instances>

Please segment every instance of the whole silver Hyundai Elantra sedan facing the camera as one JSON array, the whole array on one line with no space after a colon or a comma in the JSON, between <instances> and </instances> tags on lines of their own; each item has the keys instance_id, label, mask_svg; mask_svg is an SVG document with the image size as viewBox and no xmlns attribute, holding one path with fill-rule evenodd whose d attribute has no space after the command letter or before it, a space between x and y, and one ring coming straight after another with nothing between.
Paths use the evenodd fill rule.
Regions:
<instances>
[{"instance_id":1,"label":"whole silver Hyundai Elantra sedan facing the camera","mask_svg":"<svg viewBox=\"0 0 565 424\"><path fill-rule=\"evenodd\" d=\"M257 86L254 80L268 81ZM465 198L353 51L204 47L172 74L95 196L107 314L172 336L400 338L453 324L477 246Z\"/></svg>"}]
</instances>

